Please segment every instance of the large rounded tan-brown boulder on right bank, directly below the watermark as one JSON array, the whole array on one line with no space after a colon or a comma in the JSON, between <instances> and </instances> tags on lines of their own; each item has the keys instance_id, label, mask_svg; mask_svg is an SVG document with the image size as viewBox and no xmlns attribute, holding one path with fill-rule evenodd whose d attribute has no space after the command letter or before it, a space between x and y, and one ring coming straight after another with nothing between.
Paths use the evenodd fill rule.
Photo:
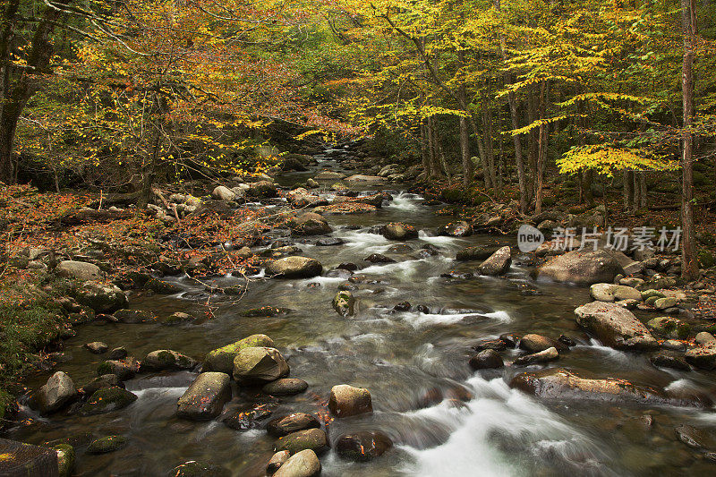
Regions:
<instances>
[{"instance_id":1,"label":"large rounded tan-brown boulder on right bank, directly below the watermark","mask_svg":"<svg viewBox=\"0 0 716 477\"><path fill-rule=\"evenodd\" d=\"M598 250L567 251L536 268L533 273L538 279L592 285L601 282L611 283L614 277L622 272L621 265L612 254Z\"/></svg>"}]
</instances>

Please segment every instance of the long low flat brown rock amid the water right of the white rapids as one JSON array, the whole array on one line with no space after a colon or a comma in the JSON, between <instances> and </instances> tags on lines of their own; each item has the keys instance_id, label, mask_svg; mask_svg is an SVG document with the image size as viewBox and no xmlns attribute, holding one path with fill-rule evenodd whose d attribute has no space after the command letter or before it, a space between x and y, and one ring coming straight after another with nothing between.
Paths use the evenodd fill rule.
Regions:
<instances>
[{"instance_id":1,"label":"long low flat brown rock amid the water right of the white rapids","mask_svg":"<svg viewBox=\"0 0 716 477\"><path fill-rule=\"evenodd\" d=\"M561 368L518 374L510 381L509 386L527 394L559 402L575 399L641 405L705 405L695 397L669 396L664 392L635 386L621 379L584 379Z\"/></svg>"}]
</instances>

